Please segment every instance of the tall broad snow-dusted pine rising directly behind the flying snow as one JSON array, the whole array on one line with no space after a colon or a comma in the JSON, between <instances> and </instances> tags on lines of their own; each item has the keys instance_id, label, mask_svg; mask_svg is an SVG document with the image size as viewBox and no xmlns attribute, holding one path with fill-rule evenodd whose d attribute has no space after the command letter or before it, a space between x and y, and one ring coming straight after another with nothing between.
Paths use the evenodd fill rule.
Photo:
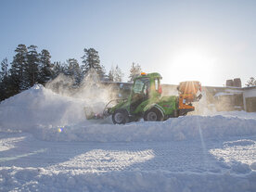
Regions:
<instances>
[{"instance_id":1,"label":"tall broad snow-dusted pine rising directly behind the flying snow","mask_svg":"<svg viewBox=\"0 0 256 192\"><path fill-rule=\"evenodd\" d=\"M91 69L94 69L96 70L96 73L99 75L99 79L104 79L106 71L104 67L100 65L98 52L94 48L84 48L83 51L83 74L87 73Z\"/></svg>"}]
</instances>

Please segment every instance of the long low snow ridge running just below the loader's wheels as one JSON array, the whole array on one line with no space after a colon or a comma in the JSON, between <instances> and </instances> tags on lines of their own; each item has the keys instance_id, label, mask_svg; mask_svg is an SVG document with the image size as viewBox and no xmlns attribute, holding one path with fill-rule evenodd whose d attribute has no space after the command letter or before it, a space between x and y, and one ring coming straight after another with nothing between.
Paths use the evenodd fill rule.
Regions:
<instances>
[{"instance_id":1,"label":"long low snow ridge running just below the loader's wheels","mask_svg":"<svg viewBox=\"0 0 256 192\"><path fill-rule=\"evenodd\" d=\"M125 125L77 124L38 128L36 136L48 141L176 141L256 134L256 119L224 116L187 116L166 122L132 122Z\"/></svg>"}]
</instances>

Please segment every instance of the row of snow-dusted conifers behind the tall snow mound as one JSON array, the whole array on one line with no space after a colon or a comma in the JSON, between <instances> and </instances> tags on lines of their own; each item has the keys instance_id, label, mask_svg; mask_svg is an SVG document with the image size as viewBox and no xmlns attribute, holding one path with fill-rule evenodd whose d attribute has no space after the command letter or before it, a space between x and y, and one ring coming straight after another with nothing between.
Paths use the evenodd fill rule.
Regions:
<instances>
[{"instance_id":1,"label":"row of snow-dusted conifers behind the tall snow mound","mask_svg":"<svg viewBox=\"0 0 256 192\"><path fill-rule=\"evenodd\" d=\"M52 62L50 52L46 49L37 51L36 45L18 45L15 56L8 63L7 58L1 62L0 68L0 101L31 88L35 83L45 83L55 79L60 73L71 77L74 86L79 86L90 70L96 70L102 82L122 82L123 73L118 65L111 67L107 74L105 67L100 64L98 52L94 48L84 48L80 65L75 58L66 62ZM129 82L133 82L141 72L141 67L133 63L130 70Z\"/></svg>"}]
</instances>

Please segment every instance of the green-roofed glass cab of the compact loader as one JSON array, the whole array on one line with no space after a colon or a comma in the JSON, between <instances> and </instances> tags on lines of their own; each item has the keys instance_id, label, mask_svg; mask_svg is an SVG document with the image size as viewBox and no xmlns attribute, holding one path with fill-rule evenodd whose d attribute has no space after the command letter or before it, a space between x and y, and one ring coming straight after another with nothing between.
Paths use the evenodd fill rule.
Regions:
<instances>
[{"instance_id":1,"label":"green-roofed glass cab of the compact loader","mask_svg":"<svg viewBox=\"0 0 256 192\"><path fill-rule=\"evenodd\" d=\"M132 113L144 101L160 96L160 79L159 73L142 74L134 79L130 106Z\"/></svg>"}]
</instances>

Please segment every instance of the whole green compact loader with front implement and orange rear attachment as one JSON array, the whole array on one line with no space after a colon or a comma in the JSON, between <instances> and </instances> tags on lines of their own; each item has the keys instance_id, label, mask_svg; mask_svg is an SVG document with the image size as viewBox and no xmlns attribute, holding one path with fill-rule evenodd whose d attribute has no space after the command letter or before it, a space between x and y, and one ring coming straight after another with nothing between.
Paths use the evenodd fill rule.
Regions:
<instances>
[{"instance_id":1,"label":"whole green compact loader with front implement and orange rear attachment","mask_svg":"<svg viewBox=\"0 0 256 192\"><path fill-rule=\"evenodd\" d=\"M201 98L201 85L198 82L183 82L178 86L179 96L161 96L161 76L157 72L141 73L134 79L131 94L126 99L109 101L102 114L95 114L84 108L87 119L103 119L112 116L115 124L127 122L164 121L171 117L184 116L195 108L191 102ZM117 102L109 107L112 102Z\"/></svg>"}]
</instances>

